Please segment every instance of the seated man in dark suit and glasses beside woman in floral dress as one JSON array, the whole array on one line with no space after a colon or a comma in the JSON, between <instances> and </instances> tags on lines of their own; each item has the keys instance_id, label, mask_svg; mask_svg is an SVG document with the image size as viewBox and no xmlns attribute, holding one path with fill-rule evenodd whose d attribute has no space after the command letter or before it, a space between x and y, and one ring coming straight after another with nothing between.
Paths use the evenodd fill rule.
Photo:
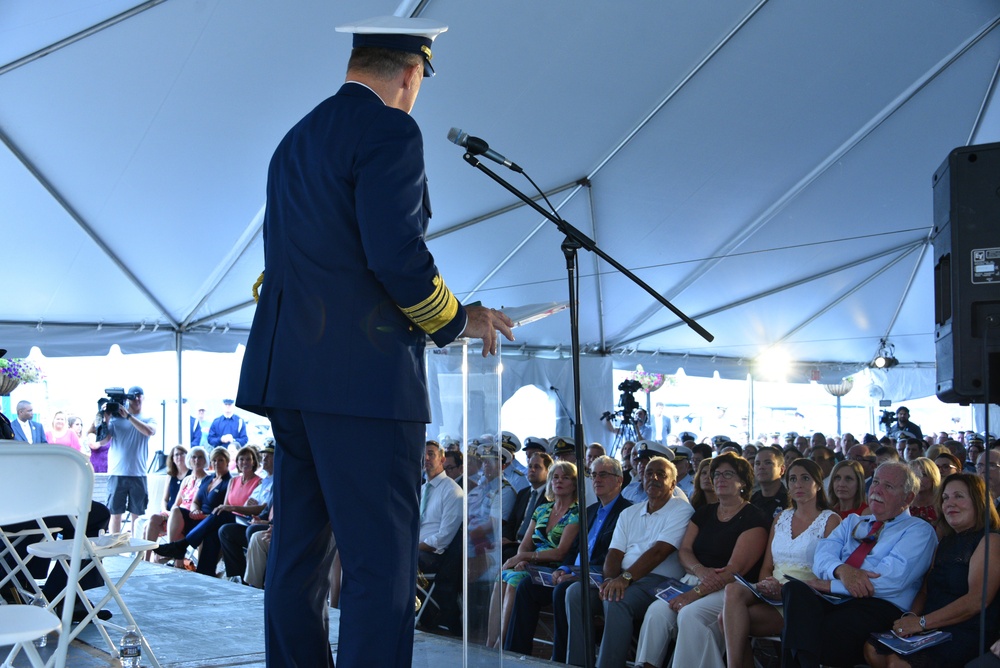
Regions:
<instances>
[{"instance_id":1,"label":"seated man in dark suit and glasses beside woman in floral dress","mask_svg":"<svg viewBox=\"0 0 1000 668\"><path fill-rule=\"evenodd\" d=\"M589 531L587 546L590 568L601 572L608 546L615 532L618 516L632 504L621 495L622 465L612 457L599 457L591 468L597 503L587 508ZM544 605L552 605L555 629L552 637L552 660L566 661L566 590L579 578L573 575L573 566L580 565L579 543L563 561L563 565L553 573L555 588L535 584L525 580L517 586L514 596L514 612L511 615L504 649L522 654L531 653L532 638L538 624L538 611Z\"/></svg>"}]
</instances>

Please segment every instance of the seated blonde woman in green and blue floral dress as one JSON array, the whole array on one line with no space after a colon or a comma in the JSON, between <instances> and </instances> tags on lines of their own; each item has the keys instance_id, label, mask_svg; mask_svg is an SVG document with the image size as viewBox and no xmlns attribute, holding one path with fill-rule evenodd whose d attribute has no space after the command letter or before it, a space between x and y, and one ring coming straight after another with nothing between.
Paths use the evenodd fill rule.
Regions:
<instances>
[{"instance_id":1,"label":"seated blonde woman in green and blue floral dress","mask_svg":"<svg viewBox=\"0 0 1000 668\"><path fill-rule=\"evenodd\" d=\"M517 554L503 564L501 582L493 590L487 646L499 647L514 610L517 585L531 577L529 564L558 567L569 554L580 531L580 511L576 502L576 466L556 462L549 469L545 499L535 509Z\"/></svg>"}]
</instances>

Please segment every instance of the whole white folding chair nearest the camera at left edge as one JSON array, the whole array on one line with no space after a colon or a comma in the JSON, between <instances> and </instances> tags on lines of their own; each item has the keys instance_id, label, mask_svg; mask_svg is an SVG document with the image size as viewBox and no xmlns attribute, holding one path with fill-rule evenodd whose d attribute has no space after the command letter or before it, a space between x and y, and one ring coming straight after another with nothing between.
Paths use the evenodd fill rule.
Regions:
<instances>
[{"instance_id":1,"label":"whole white folding chair nearest the camera at left edge","mask_svg":"<svg viewBox=\"0 0 1000 668\"><path fill-rule=\"evenodd\" d=\"M65 515L78 528L64 563L68 584L66 591L60 595L63 599L61 620L49 610L52 603L44 609L24 604L0 605L0 645L14 645L4 666L12 665L14 658L23 650L35 668L64 668L76 600L76 587L70 585L80 575L94 471L86 457L64 445L0 441L0 475L3 476L0 482L0 527ZM19 563L23 565L24 562ZM25 575L31 578L30 573ZM59 642L56 650L47 662L43 661L32 641L57 629Z\"/></svg>"}]
</instances>

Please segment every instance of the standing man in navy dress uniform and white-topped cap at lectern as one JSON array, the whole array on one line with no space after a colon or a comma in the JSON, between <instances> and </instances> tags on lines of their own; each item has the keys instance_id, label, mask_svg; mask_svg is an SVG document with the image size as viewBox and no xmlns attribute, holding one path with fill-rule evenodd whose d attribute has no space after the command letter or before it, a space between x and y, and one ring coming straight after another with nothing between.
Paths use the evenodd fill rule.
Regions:
<instances>
[{"instance_id":1,"label":"standing man in navy dress uniform and white-topped cap at lectern","mask_svg":"<svg viewBox=\"0 0 1000 668\"><path fill-rule=\"evenodd\" d=\"M333 666L331 532L343 565L337 663L410 666L424 338L496 352L499 311L463 307L424 242L430 199L410 117L447 26L382 17L354 33L347 81L281 141L268 169L265 273L236 403L277 451L265 633L271 668ZM374 476L344 455L363 444Z\"/></svg>"}]
</instances>

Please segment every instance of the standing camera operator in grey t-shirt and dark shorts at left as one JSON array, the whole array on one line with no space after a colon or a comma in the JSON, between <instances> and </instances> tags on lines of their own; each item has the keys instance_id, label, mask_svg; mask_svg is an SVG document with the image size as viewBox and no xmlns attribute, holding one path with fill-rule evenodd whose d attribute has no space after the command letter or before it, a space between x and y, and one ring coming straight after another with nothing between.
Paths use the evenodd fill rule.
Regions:
<instances>
[{"instance_id":1,"label":"standing camera operator in grey t-shirt and dark shorts at left","mask_svg":"<svg viewBox=\"0 0 1000 668\"><path fill-rule=\"evenodd\" d=\"M122 528L122 513L126 510L138 517L146 512L146 461L149 459L149 437L156 433L156 421L142 415L142 388L133 386L126 394L128 409L118 404L117 415L107 420L108 433L101 445L111 442L108 450L108 510L111 511L111 533Z\"/></svg>"}]
</instances>

